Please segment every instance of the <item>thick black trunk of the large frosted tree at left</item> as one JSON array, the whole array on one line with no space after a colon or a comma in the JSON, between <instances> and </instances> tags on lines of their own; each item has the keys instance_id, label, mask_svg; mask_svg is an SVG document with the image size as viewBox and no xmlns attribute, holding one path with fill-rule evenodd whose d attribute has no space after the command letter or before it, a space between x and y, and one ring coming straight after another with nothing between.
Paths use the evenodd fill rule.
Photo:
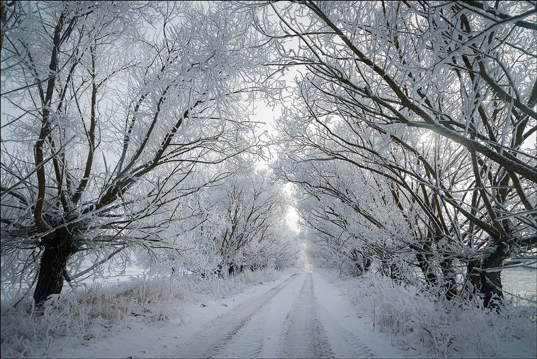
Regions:
<instances>
[{"instance_id":1,"label":"thick black trunk of the large frosted tree at left","mask_svg":"<svg viewBox=\"0 0 537 359\"><path fill-rule=\"evenodd\" d=\"M52 294L61 293L67 260L73 253L70 239L67 229L61 228L54 233L52 244L45 246L33 296L36 304L43 303Z\"/></svg>"}]
</instances>

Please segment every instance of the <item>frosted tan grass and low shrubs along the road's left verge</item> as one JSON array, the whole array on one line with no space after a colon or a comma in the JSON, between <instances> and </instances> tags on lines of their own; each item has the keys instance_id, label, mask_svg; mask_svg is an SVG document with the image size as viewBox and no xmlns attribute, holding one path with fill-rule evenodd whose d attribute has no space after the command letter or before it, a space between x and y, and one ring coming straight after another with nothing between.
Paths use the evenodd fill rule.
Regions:
<instances>
[{"instance_id":1,"label":"frosted tan grass and low shrubs along the road's left verge","mask_svg":"<svg viewBox=\"0 0 537 359\"><path fill-rule=\"evenodd\" d=\"M42 307L31 298L16 307L3 302L2 357L39 356L59 336L97 341L133 317L182 322L182 304L195 298L178 281L156 277L82 286L50 296Z\"/></svg>"}]
</instances>

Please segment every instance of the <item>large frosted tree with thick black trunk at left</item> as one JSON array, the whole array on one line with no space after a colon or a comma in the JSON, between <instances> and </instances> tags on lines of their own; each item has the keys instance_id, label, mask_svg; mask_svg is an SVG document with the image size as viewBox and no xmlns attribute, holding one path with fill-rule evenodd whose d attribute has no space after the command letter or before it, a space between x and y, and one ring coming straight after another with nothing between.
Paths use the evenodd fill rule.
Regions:
<instances>
[{"instance_id":1,"label":"large frosted tree with thick black trunk at left","mask_svg":"<svg viewBox=\"0 0 537 359\"><path fill-rule=\"evenodd\" d=\"M37 303L73 255L161 241L143 219L197 167L258 150L264 56L218 6L2 1L2 273L37 273Z\"/></svg>"}]
</instances>

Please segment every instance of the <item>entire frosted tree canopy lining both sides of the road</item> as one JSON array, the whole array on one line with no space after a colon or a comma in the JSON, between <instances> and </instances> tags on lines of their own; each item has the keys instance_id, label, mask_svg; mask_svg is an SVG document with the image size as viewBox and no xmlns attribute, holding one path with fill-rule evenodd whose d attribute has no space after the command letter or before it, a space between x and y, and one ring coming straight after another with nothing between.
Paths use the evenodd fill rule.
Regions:
<instances>
[{"instance_id":1,"label":"entire frosted tree canopy lining both sides of the road","mask_svg":"<svg viewBox=\"0 0 537 359\"><path fill-rule=\"evenodd\" d=\"M90 252L292 262L286 182L312 253L354 275L490 307L535 260L532 2L1 5L2 265L37 302Z\"/></svg>"}]
</instances>

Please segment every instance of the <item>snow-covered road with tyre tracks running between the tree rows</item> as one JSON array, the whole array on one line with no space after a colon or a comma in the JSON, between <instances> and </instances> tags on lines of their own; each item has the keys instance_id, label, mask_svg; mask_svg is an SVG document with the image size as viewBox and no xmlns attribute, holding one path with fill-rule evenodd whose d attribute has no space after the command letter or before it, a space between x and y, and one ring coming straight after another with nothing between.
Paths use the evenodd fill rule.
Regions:
<instances>
[{"instance_id":1,"label":"snow-covered road with tyre tracks running between the tree rows","mask_svg":"<svg viewBox=\"0 0 537 359\"><path fill-rule=\"evenodd\" d=\"M339 317L349 318L350 313L342 313L342 308L334 308L330 300L326 301L330 299L330 296L324 298L327 297L326 294L333 294L333 291L322 293L323 291L314 290L317 282L321 282L321 286L328 285L318 275L293 274L270 290L252 296L209 320L190 337L183 337L182 343L166 353L166 356L185 358L376 356L359 338L359 333L353 333L359 329L356 322L338 320ZM329 307L323 305L323 299L326 302L324 304L328 304ZM371 328L368 331L371 332ZM376 339L375 344L379 338ZM390 356L401 356L396 348L391 349L393 352ZM379 354L385 356L387 353Z\"/></svg>"}]
</instances>

